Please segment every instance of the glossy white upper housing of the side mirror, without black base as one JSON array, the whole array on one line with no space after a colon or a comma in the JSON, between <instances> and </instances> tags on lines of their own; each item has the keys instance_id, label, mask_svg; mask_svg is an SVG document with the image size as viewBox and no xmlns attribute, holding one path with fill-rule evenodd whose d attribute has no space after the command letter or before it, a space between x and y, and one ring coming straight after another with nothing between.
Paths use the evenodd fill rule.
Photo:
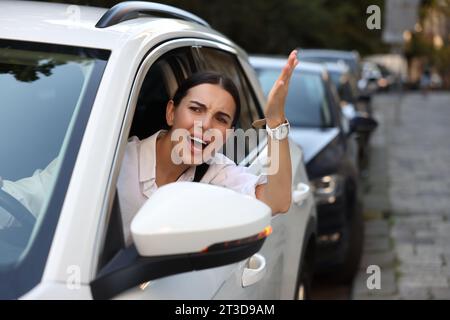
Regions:
<instances>
[{"instance_id":1,"label":"glossy white upper housing of the side mirror, without black base","mask_svg":"<svg viewBox=\"0 0 450 320\"><path fill-rule=\"evenodd\" d=\"M176 182L159 188L131 223L143 257L207 251L213 245L271 232L271 209L223 187Z\"/></svg>"}]
</instances>

